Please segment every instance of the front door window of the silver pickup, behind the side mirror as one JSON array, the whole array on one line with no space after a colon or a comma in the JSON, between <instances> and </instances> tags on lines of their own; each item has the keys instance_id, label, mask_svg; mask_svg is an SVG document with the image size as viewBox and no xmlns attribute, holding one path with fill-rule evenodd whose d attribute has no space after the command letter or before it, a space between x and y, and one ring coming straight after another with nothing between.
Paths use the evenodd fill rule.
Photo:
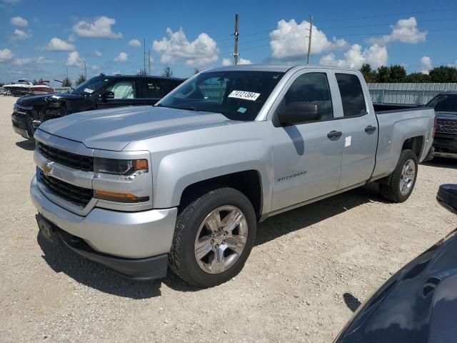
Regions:
<instances>
[{"instance_id":1,"label":"front door window of the silver pickup, behind the side mirror","mask_svg":"<svg viewBox=\"0 0 457 343\"><path fill-rule=\"evenodd\" d=\"M284 96L286 106L293 102L316 104L322 120L333 118L330 87L325 73L306 73L293 81Z\"/></svg>"}]
</instances>

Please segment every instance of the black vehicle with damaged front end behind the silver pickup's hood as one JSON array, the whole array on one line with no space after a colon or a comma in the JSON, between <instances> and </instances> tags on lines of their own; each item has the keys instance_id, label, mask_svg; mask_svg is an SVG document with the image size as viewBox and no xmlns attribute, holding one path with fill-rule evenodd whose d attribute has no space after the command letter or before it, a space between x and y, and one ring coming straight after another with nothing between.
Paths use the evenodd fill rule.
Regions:
<instances>
[{"instance_id":1,"label":"black vehicle with damaged front end behind the silver pickup's hood","mask_svg":"<svg viewBox=\"0 0 457 343\"><path fill-rule=\"evenodd\" d=\"M71 93L23 96L14 104L13 129L26 139L48 119L81 111L116 106L154 105L184 79L161 76L106 76L100 74Z\"/></svg>"}]
</instances>

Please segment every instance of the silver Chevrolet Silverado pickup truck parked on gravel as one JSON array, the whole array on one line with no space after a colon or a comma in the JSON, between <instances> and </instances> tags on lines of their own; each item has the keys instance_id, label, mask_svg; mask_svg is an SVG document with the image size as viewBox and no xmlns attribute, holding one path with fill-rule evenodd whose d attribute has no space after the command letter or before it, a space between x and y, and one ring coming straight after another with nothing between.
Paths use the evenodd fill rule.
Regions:
<instances>
[{"instance_id":1,"label":"silver Chevrolet Silverado pickup truck parked on gravel","mask_svg":"<svg viewBox=\"0 0 457 343\"><path fill-rule=\"evenodd\" d=\"M35 132L41 234L134 279L235 276L256 224L367 182L404 202L435 111L373 108L361 73L204 71L156 106L71 114ZM306 209L303 209L306 212Z\"/></svg>"}]
</instances>

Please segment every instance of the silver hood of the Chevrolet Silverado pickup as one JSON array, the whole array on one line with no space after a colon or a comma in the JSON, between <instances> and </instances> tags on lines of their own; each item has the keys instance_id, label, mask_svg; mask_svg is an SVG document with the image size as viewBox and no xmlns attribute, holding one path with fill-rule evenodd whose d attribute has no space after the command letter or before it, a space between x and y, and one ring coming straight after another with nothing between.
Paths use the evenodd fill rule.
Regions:
<instances>
[{"instance_id":1,"label":"silver hood of the Chevrolet Silverado pickup","mask_svg":"<svg viewBox=\"0 0 457 343\"><path fill-rule=\"evenodd\" d=\"M121 151L132 141L238 122L218 113L130 106L51 119L41 124L39 130L81 141L89 148Z\"/></svg>"}]
</instances>

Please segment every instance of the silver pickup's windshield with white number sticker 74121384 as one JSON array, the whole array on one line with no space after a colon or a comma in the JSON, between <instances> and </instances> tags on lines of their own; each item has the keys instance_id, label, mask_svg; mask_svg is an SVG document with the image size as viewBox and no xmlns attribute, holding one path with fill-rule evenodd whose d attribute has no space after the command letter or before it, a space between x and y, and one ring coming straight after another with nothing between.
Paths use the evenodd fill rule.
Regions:
<instances>
[{"instance_id":1,"label":"silver pickup's windshield with white number sticker 74121384","mask_svg":"<svg viewBox=\"0 0 457 343\"><path fill-rule=\"evenodd\" d=\"M209 71L182 84L157 106L223 114L253 121L284 73L277 71Z\"/></svg>"}]
</instances>

